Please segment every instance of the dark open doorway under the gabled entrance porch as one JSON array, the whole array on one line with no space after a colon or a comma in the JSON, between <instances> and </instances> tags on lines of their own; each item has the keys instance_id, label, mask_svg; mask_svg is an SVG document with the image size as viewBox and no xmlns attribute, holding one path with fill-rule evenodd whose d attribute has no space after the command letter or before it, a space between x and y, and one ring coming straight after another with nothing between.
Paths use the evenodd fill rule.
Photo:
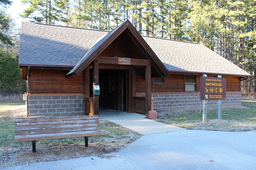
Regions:
<instances>
[{"instance_id":1,"label":"dark open doorway under the gabled entrance porch","mask_svg":"<svg viewBox=\"0 0 256 170\"><path fill-rule=\"evenodd\" d=\"M99 69L99 107L126 111L127 71Z\"/></svg>"}]
</instances>

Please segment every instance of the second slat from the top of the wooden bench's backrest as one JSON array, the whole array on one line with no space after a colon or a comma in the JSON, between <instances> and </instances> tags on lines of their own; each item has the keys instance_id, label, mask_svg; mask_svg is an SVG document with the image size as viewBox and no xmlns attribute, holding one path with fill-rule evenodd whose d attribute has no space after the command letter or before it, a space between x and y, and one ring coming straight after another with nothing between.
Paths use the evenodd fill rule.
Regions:
<instances>
[{"instance_id":1,"label":"second slat from the top of the wooden bench's backrest","mask_svg":"<svg viewBox=\"0 0 256 170\"><path fill-rule=\"evenodd\" d=\"M15 122L15 126L45 126L45 125L69 125L69 124L87 124L87 123L96 123L99 122L99 119L87 119L87 120L63 120L63 121L49 121L49 122Z\"/></svg>"}]
</instances>

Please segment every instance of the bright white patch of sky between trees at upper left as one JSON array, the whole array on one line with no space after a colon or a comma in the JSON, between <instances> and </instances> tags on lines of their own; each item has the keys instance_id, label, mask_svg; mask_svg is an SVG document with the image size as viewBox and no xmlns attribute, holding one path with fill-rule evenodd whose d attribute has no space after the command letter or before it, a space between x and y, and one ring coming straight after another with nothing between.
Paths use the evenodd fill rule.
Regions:
<instances>
[{"instance_id":1,"label":"bright white patch of sky between trees at upper left","mask_svg":"<svg viewBox=\"0 0 256 170\"><path fill-rule=\"evenodd\" d=\"M23 19L19 16L19 14L21 14L26 7L27 5L20 4L20 0L12 0L12 6L9 6L9 8L7 8L7 13L11 15L18 28L21 27L22 21L27 21L26 19Z\"/></svg>"}]
</instances>

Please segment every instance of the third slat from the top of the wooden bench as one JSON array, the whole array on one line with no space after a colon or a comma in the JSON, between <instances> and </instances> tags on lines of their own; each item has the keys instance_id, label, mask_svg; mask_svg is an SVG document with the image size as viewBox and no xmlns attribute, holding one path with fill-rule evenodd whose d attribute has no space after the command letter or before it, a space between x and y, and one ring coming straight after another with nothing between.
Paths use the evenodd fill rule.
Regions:
<instances>
[{"instance_id":1,"label":"third slat from the top of the wooden bench","mask_svg":"<svg viewBox=\"0 0 256 170\"><path fill-rule=\"evenodd\" d=\"M26 130L49 130L49 129L65 129L65 128L76 128L76 127L96 127L99 126L99 123L90 123L90 124L74 124L74 125L47 125L47 126L23 126L16 127L15 133L17 131L26 131Z\"/></svg>"}]
</instances>

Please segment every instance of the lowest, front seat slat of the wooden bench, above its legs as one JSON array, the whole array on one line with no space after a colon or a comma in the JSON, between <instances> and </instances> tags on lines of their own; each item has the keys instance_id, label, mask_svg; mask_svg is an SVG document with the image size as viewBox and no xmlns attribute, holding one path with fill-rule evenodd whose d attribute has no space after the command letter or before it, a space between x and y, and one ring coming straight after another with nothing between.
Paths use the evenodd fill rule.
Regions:
<instances>
[{"instance_id":1,"label":"lowest, front seat slat of the wooden bench, above its legs","mask_svg":"<svg viewBox=\"0 0 256 170\"><path fill-rule=\"evenodd\" d=\"M14 142L36 141L36 140L45 140L45 139L89 137L89 136L103 136L103 135L105 135L105 133L102 133L100 131L51 133L51 134L38 134L38 135L19 135L19 136L15 136Z\"/></svg>"}]
</instances>

